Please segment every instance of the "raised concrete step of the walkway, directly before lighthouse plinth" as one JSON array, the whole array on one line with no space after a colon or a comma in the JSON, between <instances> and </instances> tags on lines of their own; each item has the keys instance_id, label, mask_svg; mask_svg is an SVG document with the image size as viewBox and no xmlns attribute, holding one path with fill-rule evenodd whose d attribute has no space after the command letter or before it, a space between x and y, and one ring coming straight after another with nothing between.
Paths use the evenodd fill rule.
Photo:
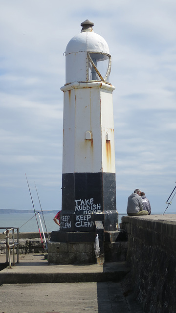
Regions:
<instances>
[{"instance_id":1,"label":"raised concrete step of the walkway, directly before lighthouse plinth","mask_svg":"<svg viewBox=\"0 0 176 313\"><path fill-rule=\"evenodd\" d=\"M0 263L5 261L6 256L0 255ZM103 266L48 265L44 254L22 254L19 264L0 271L0 284L119 281L128 271L124 262L110 262Z\"/></svg>"}]
</instances>

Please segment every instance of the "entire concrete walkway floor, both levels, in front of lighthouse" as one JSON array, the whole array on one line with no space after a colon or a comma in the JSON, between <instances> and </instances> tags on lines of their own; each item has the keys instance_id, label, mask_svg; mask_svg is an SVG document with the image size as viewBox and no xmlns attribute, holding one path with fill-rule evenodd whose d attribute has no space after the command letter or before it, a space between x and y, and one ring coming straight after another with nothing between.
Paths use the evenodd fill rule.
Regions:
<instances>
[{"instance_id":1,"label":"entire concrete walkway floor, both levels, in front of lighthouse","mask_svg":"<svg viewBox=\"0 0 176 313\"><path fill-rule=\"evenodd\" d=\"M44 254L20 255L19 262L0 271L0 313L143 313L124 263L48 266Z\"/></svg>"}]
</instances>

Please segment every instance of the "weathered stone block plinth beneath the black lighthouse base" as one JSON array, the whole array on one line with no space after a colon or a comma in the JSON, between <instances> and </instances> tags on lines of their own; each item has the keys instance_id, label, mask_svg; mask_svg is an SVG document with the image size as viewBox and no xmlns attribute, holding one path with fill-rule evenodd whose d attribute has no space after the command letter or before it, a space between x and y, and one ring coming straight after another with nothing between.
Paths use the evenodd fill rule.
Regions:
<instances>
[{"instance_id":1,"label":"weathered stone block plinth beneath the black lighthouse base","mask_svg":"<svg viewBox=\"0 0 176 313\"><path fill-rule=\"evenodd\" d=\"M48 264L96 263L102 265L104 262L125 261L126 233L118 230L103 232L100 223L99 221L97 223L100 246L100 256L97 259L94 251L95 233L53 231L51 240L48 242ZM56 239L60 239L60 242ZM65 240L67 241L64 242Z\"/></svg>"}]
</instances>

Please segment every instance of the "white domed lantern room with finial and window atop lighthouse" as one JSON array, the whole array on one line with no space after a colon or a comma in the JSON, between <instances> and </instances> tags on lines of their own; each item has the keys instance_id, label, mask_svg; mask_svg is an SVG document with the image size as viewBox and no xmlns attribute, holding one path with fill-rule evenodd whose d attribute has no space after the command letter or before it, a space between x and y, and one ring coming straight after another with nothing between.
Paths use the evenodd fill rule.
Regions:
<instances>
[{"instance_id":1,"label":"white domed lantern room with finial and window atop lighthouse","mask_svg":"<svg viewBox=\"0 0 176 313\"><path fill-rule=\"evenodd\" d=\"M81 32L66 46L66 84L104 81L110 75L110 50L105 39L94 33L93 23L81 23Z\"/></svg>"}]
</instances>

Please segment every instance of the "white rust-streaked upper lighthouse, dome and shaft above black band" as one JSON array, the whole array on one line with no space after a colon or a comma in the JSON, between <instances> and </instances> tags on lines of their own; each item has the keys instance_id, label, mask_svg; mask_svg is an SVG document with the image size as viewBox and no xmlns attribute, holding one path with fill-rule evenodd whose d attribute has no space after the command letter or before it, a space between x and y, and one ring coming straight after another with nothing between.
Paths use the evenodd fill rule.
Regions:
<instances>
[{"instance_id":1,"label":"white rust-streaked upper lighthouse, dome and shaft above black band","mask_svg":"<svg viewBox=\"0 0 176 313\"><path fill-rule=\"evenodd\" d=\"M115 88L102 76L110 70L109 53L105 39L93 30L79 33L66 46L66 84L61 88L63 174L115 173L112 105ZM107 58L109 67L102 74L99 64Z\"/></svg>"}]
</instances>

